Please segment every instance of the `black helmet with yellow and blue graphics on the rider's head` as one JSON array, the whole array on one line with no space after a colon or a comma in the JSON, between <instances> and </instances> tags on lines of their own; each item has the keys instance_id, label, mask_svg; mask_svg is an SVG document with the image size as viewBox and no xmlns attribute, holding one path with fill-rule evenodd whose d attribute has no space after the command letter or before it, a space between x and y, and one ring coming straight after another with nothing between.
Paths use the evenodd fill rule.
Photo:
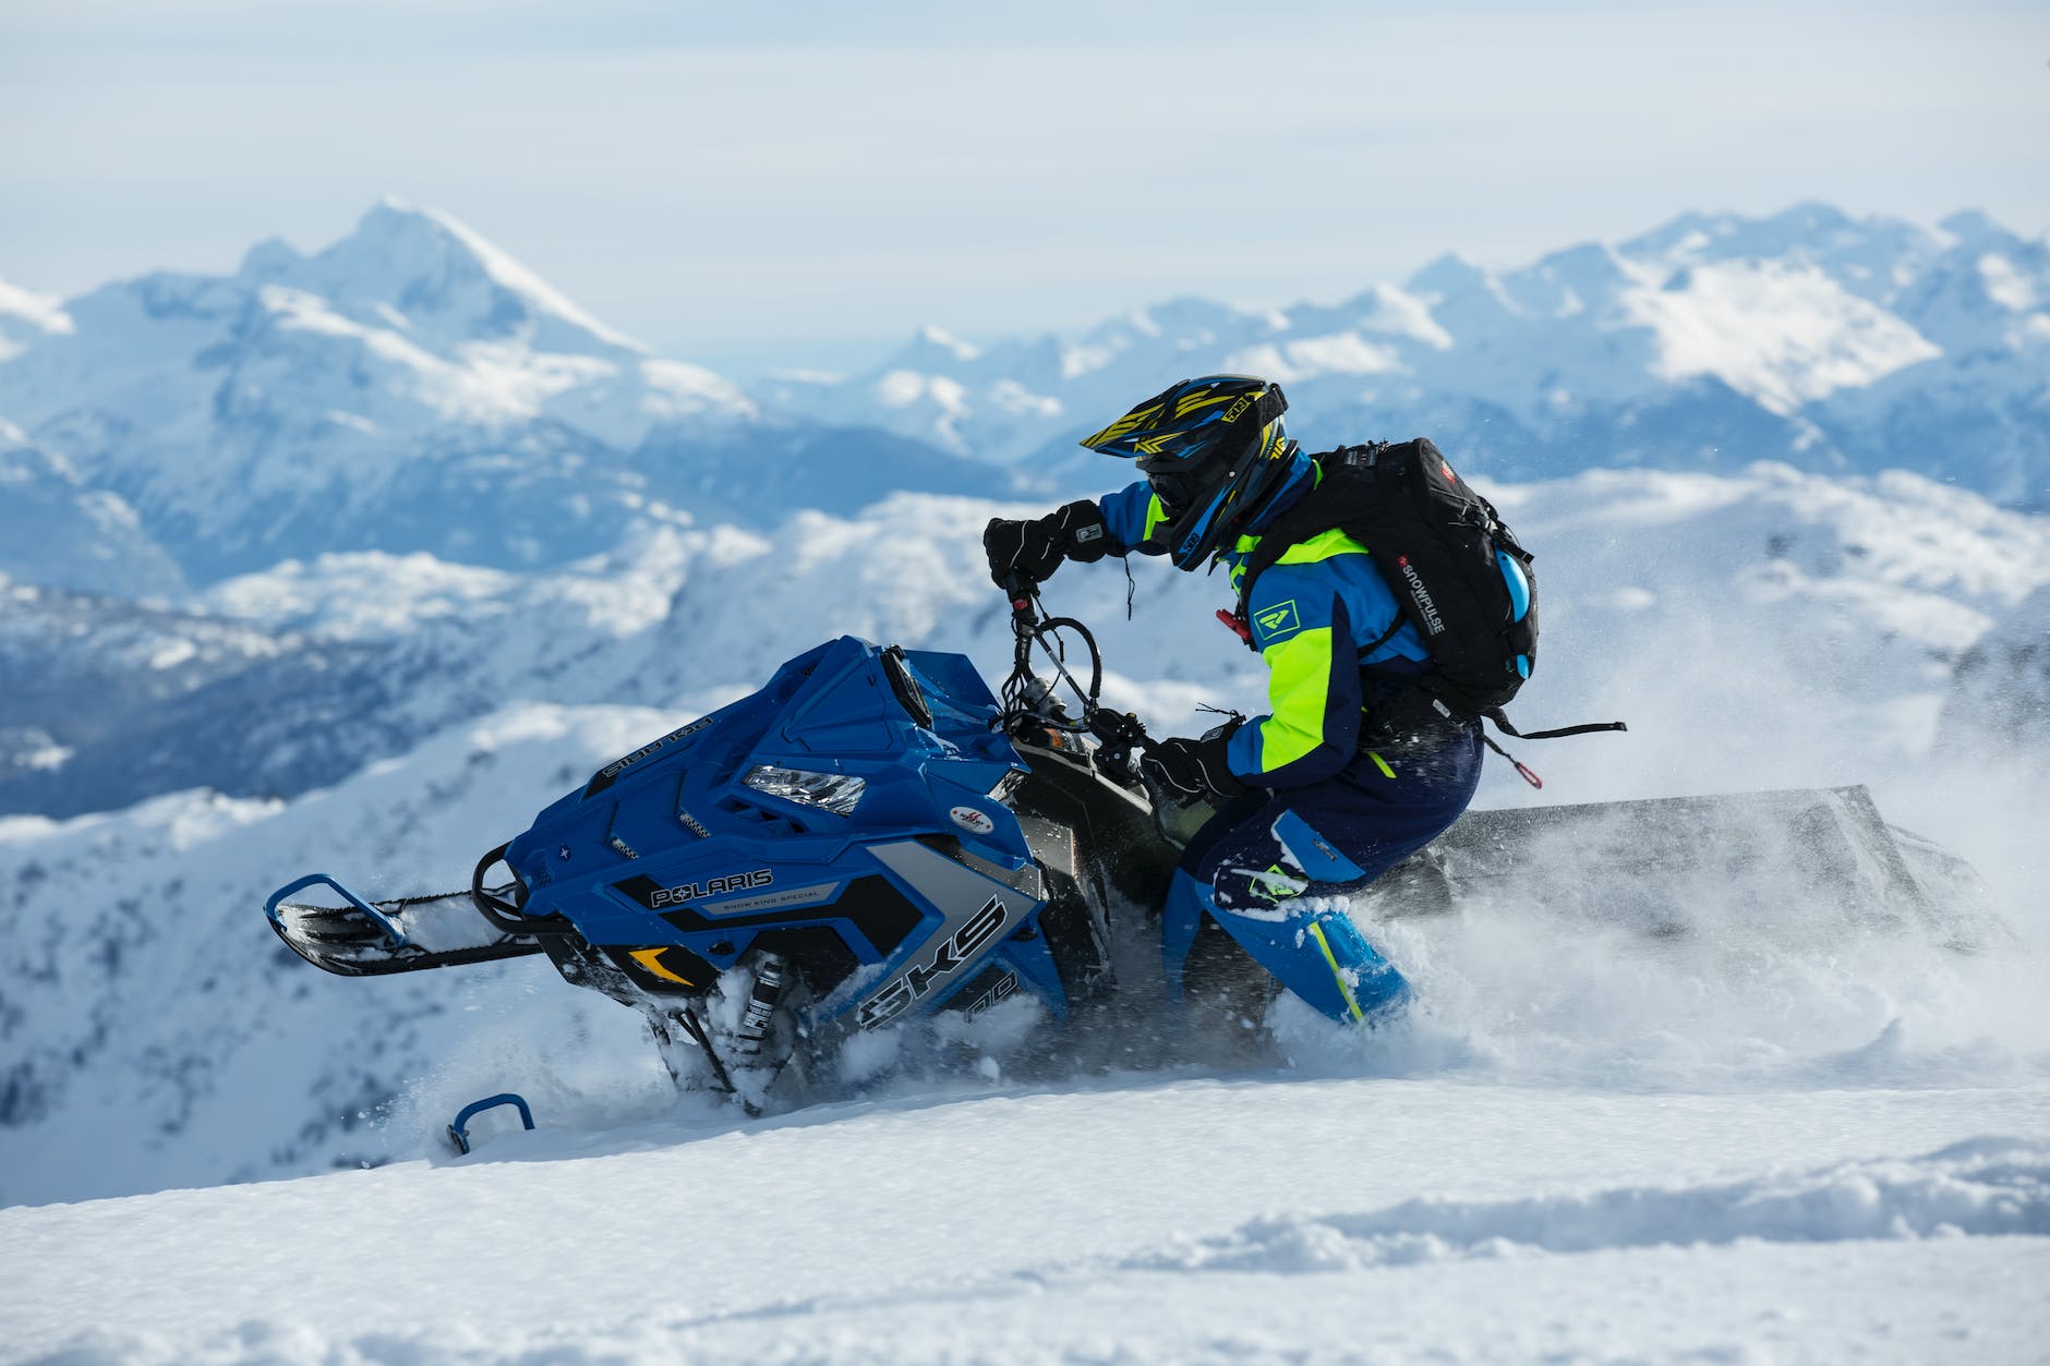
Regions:
<instances>
[{"instance_id":1,"label":"black helmet with yellow and blue graphics on the rider's head","mask_svg":"<svg viewBox=\"0 0 2050 1366\"><path fill-rule=\"evenodd\" d=\"M1281 429L1281 386L1253 375L1183 379L1082 445L1138 459L1166 521L1175 568L1193 570L1234 544L1287 482L1296 443Z\"/></svg>"}]
</instances>

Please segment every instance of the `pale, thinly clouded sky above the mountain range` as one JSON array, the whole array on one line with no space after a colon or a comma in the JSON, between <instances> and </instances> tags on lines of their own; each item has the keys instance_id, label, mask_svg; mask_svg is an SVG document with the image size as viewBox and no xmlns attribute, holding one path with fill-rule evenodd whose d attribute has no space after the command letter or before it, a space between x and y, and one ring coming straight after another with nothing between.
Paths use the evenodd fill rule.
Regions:
<instances>
[{"instance_id":1,"label":"pale, thinly clouded sky above the mountain range","mask_svg":"<svg viewBox=\"0 0 2050 1366\"><path fill-rule=\"evenodd\" d=\"M2044 232L2044 4L0 0L0 279L392 193L668 355L832 365L1685 209Z\"/></svg>"}]
</instances>

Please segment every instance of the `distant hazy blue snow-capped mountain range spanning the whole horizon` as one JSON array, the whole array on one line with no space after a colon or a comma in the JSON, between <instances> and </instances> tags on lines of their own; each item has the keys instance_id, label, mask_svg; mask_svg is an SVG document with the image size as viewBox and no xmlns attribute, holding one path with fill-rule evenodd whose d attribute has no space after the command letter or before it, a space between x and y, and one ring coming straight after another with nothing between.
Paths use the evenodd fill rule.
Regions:
<instances>
[{"instance_id":1,"label":"distant hazy blue snow-capped mountain range spanning the whole horizon","mask_svg":"<svg viewBox=\"0 0 2050 1366\"><path fill-rule=\"evenodd\" d=\"M0 420L197 587L355 550L525 570L636 525L761 529L914 488L1101 490L1117 472L1076 437L1220 369L1285 384L1312 445L1427 433L1496 478L1781 459L2050 507L2050 240L1978 211L1683 213L1513 269L1443 254L1339 304L1179 295L1066 338L925 326L851 377L748 388L396 199L232 275L0 289ZM37 564L10 572L66 582Z\"/></svg>"}]
</instances>

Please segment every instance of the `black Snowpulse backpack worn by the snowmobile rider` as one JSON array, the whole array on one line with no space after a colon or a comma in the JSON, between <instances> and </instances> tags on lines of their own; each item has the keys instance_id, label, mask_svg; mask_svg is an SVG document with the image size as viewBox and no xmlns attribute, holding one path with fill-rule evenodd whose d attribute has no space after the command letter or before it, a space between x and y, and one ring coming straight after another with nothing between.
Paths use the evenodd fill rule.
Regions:
<instances>
[{"instance_id":1,"label":"black Snowpulse backpack worn by the snowmobile rider","mask_svg":"<svg viewBox=\"0 0 2050 1366\"><path fill-rule=\"evenodd\" d=\"M1380 648L1404 621L1417 628L1431 652L1431 667L1423 673L1388 675L1400 691L1376 701L1376 734L1404 734L1474 716L1531 740L1626 728L1603 722L1525 734L1503 716L1537 667L1537 574L1531 554L1494 505L1460 478L1437 445L1427 437L1380 441L1339 447L1314 459L1322 470L1318 486L1261 529L1238 582L1240 624L1253 585L1283 552L1339 529L1367 548L1402 607L1396 624L1361 646L1361 654ZM1246 636L1250 644L1250 632ZM1535 779L1521 763L1517 769Z\"/></svg>"}]
</instances>

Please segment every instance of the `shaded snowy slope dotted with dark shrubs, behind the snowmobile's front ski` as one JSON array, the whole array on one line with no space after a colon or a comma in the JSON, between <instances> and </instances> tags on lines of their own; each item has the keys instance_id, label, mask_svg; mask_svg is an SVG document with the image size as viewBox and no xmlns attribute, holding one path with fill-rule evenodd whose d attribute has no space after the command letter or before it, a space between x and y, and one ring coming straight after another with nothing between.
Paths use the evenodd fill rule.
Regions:
<instances>
[{"instance_id":1,"label":"shaded snowy slope dotted with dark shrubs, behind the snowmobile's front ski","mask_svg":"<svg viewBox=\"0 0 2050 1366\"><path fill-rule=\"evenodd\" d=\"M316 980L271 937L264 884L342 849L377 894L400 876L463 884L482 849L533 816L535 794L660 728L652 712L517 710L289 808L180 794L61 825L0 820L0 1196L80 1198L377 1157L383 1140L361 1132L369 1112L474 1034L480 1017L465 1017L463 1001L498 987L490 1009L510 1011L549 968L338 993L338 978ZM597 1028L597 1040L640 1056L627 1011L599 997L551 993L521 1009L543 1034L590 1040ZM646 1062L656 1067L652 1052Z\"/></svg>"}]
</instances>

